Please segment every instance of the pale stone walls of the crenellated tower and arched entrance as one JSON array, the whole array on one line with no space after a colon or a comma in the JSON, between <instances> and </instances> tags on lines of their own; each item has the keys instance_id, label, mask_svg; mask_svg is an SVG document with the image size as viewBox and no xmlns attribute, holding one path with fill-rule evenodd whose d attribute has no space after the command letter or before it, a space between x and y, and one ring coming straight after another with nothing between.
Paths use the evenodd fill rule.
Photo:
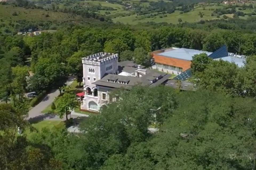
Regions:
<instances>
[{"instance_id":1,"label":"pale stone walls of the crenellated tower and arched entrance","mask_svg":"<svg viewBox=\"0 0 256 170\"><path fill-rule=\"evenodd\" d=\"M109 101L111 88L97 87L97 80L102 79L106 74L118 74L118 54L97 53L82 58L83 63L83 88L85 96L81 109L98 111L102 104ZM103 99L103 97L105 99Z\"/></svg>"}]
</instances>

